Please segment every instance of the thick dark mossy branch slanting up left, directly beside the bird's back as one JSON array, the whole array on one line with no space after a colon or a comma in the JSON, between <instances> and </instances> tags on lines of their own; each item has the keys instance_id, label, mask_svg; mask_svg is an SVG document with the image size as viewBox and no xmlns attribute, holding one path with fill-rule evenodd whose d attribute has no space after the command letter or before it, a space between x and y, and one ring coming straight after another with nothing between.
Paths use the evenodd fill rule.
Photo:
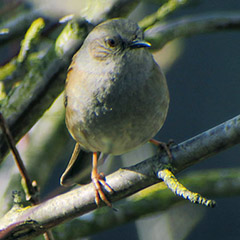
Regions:
<instances>
[{"instance_id":1,"label":"thick dark mossy branch slanting up left, directly beside the bird's back","mask_svg":"<svg viewBox=\"0 0 240 240\"><path fill-rule=\"evenodd\" d=\"M82 22L79 25L81 35L78 35L77 45L72 45L72 39L76 39L75 31L72 31L72 35L69 34L69 38L63 40L66 45L71 46L64 52L64 58L56 53L57 44L52 44L49 49L46 49L44 58L33 63L22 82L2 100L0 109L16 142L37 122L62 92L64 76L71 56L84 40L87 34L86 29L85 22ZM0 133L0 161L7 152L8 146Z\"/></svg>"}]
</instances>

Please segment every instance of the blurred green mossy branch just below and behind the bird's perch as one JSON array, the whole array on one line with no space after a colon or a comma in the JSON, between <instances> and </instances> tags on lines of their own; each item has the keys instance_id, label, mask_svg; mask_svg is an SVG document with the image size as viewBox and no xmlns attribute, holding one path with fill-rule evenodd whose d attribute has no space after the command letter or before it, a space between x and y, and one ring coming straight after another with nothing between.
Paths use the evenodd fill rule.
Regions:
<instances>
[{"instance_id":1,"label":"blurred green mossy branch just below and behind the bird's perch","mask_svg":"<svg viewBox=\"0 0 240 240\"><path fill-rule=\"evenodd\" d=\"M188 188L201 192L204 196L229 197L240 194L240 169L214 169L191 172L180 179ZM121 224L135 221L140 217L156 214L169 209L177 202L185 201L172 194L163 184L155 184L127 201L115 204L117 211L102 208L93 213L88 219L76 218L54 229L56 239L71 240L86 237ZM186 203L186 201L185 201ZM104 219L104 221L103 221Z\"/></svg>"}]
</instances>

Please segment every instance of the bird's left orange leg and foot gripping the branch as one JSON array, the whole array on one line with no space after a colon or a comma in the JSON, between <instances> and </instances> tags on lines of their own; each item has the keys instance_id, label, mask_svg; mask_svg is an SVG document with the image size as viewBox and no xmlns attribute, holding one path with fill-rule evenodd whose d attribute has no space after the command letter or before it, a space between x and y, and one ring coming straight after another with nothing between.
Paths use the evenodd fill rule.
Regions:
<instances>
[{"instance_id":1,"label":"bird's left orange leg and foot gripping the branch","mask_svg":"<svg viewBox=\"0 0 240 240\"><path fill-rule=\"evenodd\" d=\"M107 199L102 190L102 186L104 186L109 192L113 192L113 189L106 183L104 175L98 173L97 162L98 162L97 152L94 152L92 160L91 178L95 188L95 202L97 206L99 206L100 199L102 199L107 206L112 207L112 204L109 202L109 200Z\"/></svg>"}]
</instances>

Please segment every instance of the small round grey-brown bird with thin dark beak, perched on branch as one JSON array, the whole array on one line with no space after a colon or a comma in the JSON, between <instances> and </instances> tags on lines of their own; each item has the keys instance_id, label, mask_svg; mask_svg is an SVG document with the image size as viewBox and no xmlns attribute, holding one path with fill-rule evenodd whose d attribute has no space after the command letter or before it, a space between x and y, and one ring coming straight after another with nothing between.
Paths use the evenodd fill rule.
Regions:
<instances>
[{"instance_id":1,"label":"small round grey-brown bird with thin dark beak, perched on branch","mask_svg":"<svg viewBox=\"0 0 240 240\"><path fill-rule=\"evenodd\" d=\"M77 143L61 184L72 183L79 153L87 152L87 161L92 153L97 205L102 199L111 206L102 185L112 191L97 172L98 153L126 153L152 139L166 119L168 87L150 46L136 23L108 20L89 33L69 67L66 125Z\"/></svg>"}]
</instances>

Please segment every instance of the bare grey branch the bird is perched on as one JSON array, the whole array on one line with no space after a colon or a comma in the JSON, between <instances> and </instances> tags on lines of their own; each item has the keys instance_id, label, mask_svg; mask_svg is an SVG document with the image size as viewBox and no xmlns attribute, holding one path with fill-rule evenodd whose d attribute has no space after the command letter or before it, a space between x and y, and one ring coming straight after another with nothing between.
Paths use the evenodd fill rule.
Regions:
<instances>
[{"instance_id":1,"label":"bare grey branch the bird is perched on","mask_svg":"<svg viewBox=\"0 0 240 240\"><path fill-rule=\"evenodd\" d=\"M175 172L240 143L240 115L194 138L171 148ZM158 172L169 166L165 154L156 155L135 166L120 169L107 177L114 194L108 198L115 202L159 182ZM18 239L36 236L66 220L96 209L92 184L59 195L37 206L9 212L1 221L0 229L13 233L24 229ZM14 219L14 220L11 220ZM4 233L4 231L2 232ZM18 234L18 232L15 232ZM17 235L15 235L17 236ZM7 238L6 238L7 239Z\"/></svg>"}]
</instances>

